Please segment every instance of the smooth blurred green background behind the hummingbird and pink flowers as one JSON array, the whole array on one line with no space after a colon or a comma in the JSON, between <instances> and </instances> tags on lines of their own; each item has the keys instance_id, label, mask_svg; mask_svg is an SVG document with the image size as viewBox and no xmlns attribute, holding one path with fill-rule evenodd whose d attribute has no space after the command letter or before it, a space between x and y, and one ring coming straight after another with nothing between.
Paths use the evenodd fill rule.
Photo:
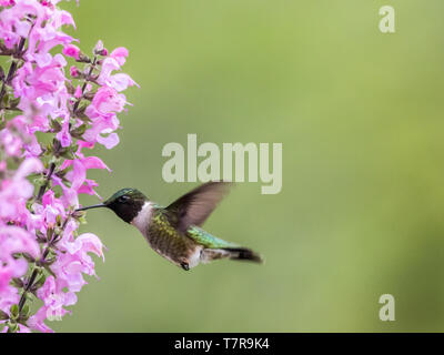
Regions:
<instances>
[{"instance_id":1,"label":"smooth blurred green background behind the hummingbird and pink flowers","mask_svg":"<svg viewBox=\"0 0 444 355\"><path fill-rule=\"evenodd\" d=\"M396 10L396 33L379 9ZM242 183L206 222L262 266L183 272L109 211L84 232L108 246L64 332L444 331L442 0L71 1L89 51L124 45L141 84L121 114L103 197L135 186L168 204L164 144L282 142L283 190ZM83 196L81 203L97 203ZM379 320L379 297L396 321Z\"/></svg>"}]
</instances>

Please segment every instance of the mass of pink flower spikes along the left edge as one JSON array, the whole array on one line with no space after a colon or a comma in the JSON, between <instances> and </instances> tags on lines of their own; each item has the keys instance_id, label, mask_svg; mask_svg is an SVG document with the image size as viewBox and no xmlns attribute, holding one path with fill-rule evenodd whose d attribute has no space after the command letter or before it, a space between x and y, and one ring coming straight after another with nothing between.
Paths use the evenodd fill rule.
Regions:
<instances>
[{"instance_id":1,"label":"mass of pink flower spikes along the left edge","mask_svg":"<svg viewBox=\"0 0 444 355\"><path fill-rule=\"evenodd\" d=\"M46 322L70 313L67 307L88 284L84 275L97 277L95 256L104 261L105 247L94 234L79 233L83 219L73 211L80 194L101 199L90 170L111 170L84 149L119 143L118 114L129 104L122 91L138 85L121 72L129 55L123 47L111 52L99 41L91 71L78 40L63 32L75 23L60 2L0 0L0 47L11 78L3 99L11 109L17 104L0 130L0 311L10 315L26 294L32 312L26 325L13 328L20 333L52 332ZM11 65L16 57L20 65ZM75 65L67 67L68 57ZM48 247L47 278L31 287L29 275ZM0 320L1 333L9 329L7 322Z\"/></svg>"}]
</instances>

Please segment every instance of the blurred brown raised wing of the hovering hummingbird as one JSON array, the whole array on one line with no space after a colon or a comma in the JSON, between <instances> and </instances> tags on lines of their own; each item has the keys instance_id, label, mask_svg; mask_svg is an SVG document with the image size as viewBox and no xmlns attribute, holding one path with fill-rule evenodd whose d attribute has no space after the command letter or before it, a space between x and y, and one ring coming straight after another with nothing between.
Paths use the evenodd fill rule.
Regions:
<instances>
[{"instance_id":1,"label":"blurred brown raised wing of the hovering hummingbird","mask_svg":"<svg viewBox=\"0 0 444 355\"><path fill-rule=\"evenodd\" d=\"M191 225L201 226L231 185L224 181L212 181L184 194L165 209L171 224L182 233Z\"/></svg>"}]
</instances>

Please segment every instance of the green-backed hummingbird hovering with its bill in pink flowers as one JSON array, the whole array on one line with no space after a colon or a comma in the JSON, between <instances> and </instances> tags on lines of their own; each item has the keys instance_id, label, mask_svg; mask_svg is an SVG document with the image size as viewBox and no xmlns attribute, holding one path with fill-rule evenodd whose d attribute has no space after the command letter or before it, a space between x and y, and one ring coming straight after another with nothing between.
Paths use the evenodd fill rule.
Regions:
<instances>
[{"instance_id":1,"label":"green-backed hummingbird hovering with its bill in pink flowers","mask_svg":"<svg viewBox=\"0 0 444 355\"><path fill-rule=\"evenodd\" d=\"M122 189L101 204L77 211L107 207L134 225L161 256L188 271L218 258L261 263L252 250L225 242L200 226L228 193L230 183L209 182L184 194L168 207L150 201L135 189Z\"/></svg>"}]
</instances>

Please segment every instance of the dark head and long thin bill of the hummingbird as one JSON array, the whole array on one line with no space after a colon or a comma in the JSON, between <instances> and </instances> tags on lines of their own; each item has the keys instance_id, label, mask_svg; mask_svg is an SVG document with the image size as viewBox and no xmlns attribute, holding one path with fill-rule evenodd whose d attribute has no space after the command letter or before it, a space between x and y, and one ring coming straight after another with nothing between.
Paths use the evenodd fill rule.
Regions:
<instances>
[{"instance_id":1,"label":"dark head and long thin bill of the hummingbird","mask_svg":"<svg viewBox=\"0 0 444 355\"><path fill-rule=\"evenodd\" d=\"M111 197L100 204L78 209L77 211L85 211L90 209L107 207L121 217L127 223L139 214L144 203L148 201L147 196L137 189L122 189L114 193Z\"/></svg>"}]
</instances>

